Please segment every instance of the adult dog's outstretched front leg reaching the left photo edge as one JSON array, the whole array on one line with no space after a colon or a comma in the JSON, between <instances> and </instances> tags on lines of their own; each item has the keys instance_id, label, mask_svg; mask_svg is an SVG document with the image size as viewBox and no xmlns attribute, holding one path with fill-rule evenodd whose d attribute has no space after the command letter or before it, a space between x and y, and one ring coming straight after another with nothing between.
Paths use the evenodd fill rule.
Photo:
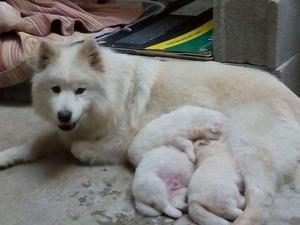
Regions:
<instances>
[{"instance_id":1,"label":"adult dog's outstretched front leg reaching the left photo edge","mask_svg":"<svg viewBox=\"0 0 300 225\"><path fill-rule=\"evenodd\" d=\"M54 133L37 137L26 144L8 148L0 152L0 167L5 168L17 163L35 161L47 152L56 149L59 143Z\"/></svg>"}]
</instances>

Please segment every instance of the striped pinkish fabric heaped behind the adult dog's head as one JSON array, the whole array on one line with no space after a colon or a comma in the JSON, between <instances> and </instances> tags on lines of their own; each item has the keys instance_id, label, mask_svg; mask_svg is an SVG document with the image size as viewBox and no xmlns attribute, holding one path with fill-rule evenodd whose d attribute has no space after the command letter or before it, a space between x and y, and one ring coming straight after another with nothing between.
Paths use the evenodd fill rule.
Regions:
<instances>
[{"instance_id":1,"label":"striped pinkish fabric heaped behind the adult dog's head","mask_svg":"<svg viewBox=\"0 0 300 225\"><path fill-rule=\"evenodd\" d=\"M142 5L96 4L86 0L7 0L0 2L0 88L32 76L40 41L73 43L128 24Z\"/></svg>"}]
</instances>

